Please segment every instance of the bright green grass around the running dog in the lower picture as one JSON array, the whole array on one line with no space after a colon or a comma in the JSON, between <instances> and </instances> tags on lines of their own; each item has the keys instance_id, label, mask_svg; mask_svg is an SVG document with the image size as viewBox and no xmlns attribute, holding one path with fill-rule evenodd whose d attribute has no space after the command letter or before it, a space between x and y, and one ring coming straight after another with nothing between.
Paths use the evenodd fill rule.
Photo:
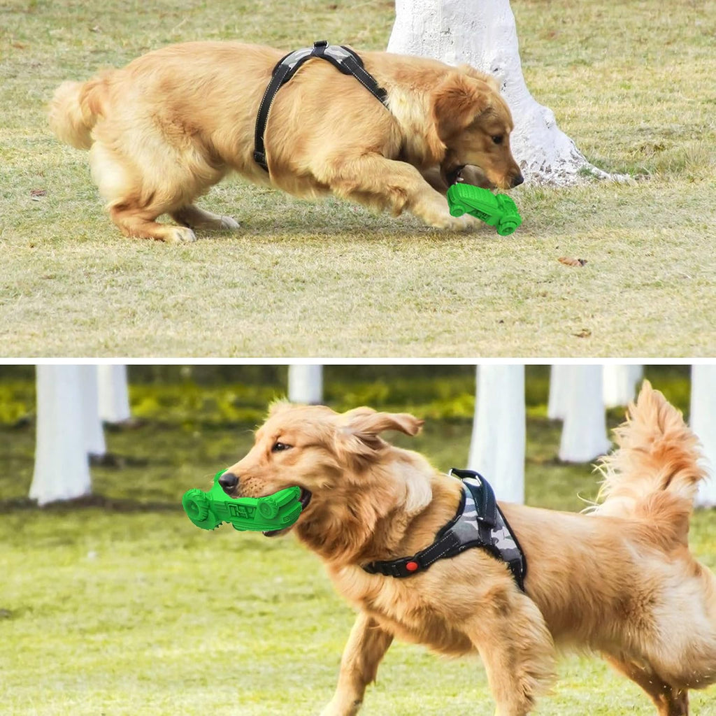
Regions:
<instances>
[{"instance_id":1,"label":"bright green grass around the running dog in the lower picture","mask_svg":"<svg viewBox=\"0 0 716 716\"><path fill-rule=\"evenodd\" d=\"M659 376L657 385L681 405L683 377L650 374L654 382ZM461 380L443 379L432 395L420 388L415 404L432 405L435 415L469 408L472 388ZM344 377L341 395L366 394L367 385ZM352 612L318 559L291 537L269 541L226 526L205 533L179 508L184 490L205 484L248 448L255 422L226 417L221 408L222 395L241 390L133 385L132 408L146 422L107 432L122 467L92 468L94 498L39 510L26 499L34 426L22 406L32 406L32 382L0 379L0 405L16 407L16 419L0 414L1 712L304 716L329 700ZM546 420L539 390L530 400L527 501L576 511L584 506L578 495L594 498L596 475L590 465L557 463L560 427ZM383 405L400 400L374 391ZM248 393L234 402L253 405ZM610 415L610 425L616 420ZM423 435L400 437L447 470L465 463L470 420L434 417ZM716 569L713 511L695 515L691 543ZM362 714L467 716L491 708L478 661L394 644ZM536 710L653 713L637 687L588 657L561 662L553 692ZM714 687L692 692L692 713L716 716Z\"/></svg>"}]
</instances>

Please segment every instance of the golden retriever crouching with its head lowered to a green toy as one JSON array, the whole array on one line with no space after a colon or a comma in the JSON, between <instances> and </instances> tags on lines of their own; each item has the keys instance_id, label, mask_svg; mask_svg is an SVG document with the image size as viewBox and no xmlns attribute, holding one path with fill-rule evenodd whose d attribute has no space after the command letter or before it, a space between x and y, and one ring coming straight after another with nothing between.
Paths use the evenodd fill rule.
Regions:
<instances>
[{"instance_id":1,"label":"golden retriever crouching with its head lowered to a green toy","mask_svg":"<svg viewBox=\"0 0 716 716\"><path fill-rule=\"evenodd\" d=\"M476 223L450 216L445 198L465 165L485 186L522 183L495 79L387 52L360 53L387 106L323 59L279 89L266 126L267 173L253 160L254 129L284 54L238 42L171 45L88 82L64 82L49 122L61 140L89 149L120 231L161 241L194 241L193 228L238 228L194 204L231 170L296 196L332 193L458 230ZM163 214L180 226L157 223Z\"/></svg>"}]
</instances>

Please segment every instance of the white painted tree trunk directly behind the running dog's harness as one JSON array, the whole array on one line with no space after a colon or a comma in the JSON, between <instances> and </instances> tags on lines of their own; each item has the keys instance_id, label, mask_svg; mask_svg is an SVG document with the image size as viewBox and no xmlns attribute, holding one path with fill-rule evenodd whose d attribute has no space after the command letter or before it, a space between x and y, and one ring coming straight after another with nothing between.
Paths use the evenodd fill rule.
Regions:
<instances>
[{"instance_id":1,"label":"white painted tree trunk directly behind the running dog's harness","mask_svg":"<svg viewBox=\"0 0 716 716\"><path fill-rule=\"evenodd\" d=\"M481 365L468 469L500 500L525 501L525 367Z\"/></svg>"}]
</instances>

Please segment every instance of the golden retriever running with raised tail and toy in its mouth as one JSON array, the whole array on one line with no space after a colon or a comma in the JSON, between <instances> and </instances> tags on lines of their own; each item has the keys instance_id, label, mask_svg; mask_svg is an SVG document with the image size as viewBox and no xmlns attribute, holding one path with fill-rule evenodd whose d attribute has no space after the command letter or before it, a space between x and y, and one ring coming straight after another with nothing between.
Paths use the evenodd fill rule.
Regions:
<instances>
[{"instance_id":1,"label":"golden retriever running with raised tail and toy in its mouth","mask_svg":"<svg viewBox=\"0 0 716 716\"><path fill-rule=\"evenodd\" d=\"M298 485L304 509L281 532L321 557L358 611L324 716L357 713L394 637L442 654L478 652L500 716L533 709L558 647L601 654L659 716L687 714L687 690L716 682L716 578L689 551L705 473L679 412L644 382L616 430L619 449L604 459L591 513L500 503L526 556L524 592L481 548L405 579L362 569L427 547L458 509L460 480L380 435L415 435L421 425L366 407L339 415L279 403L248 455L222 475L232 497Z\"/></svg>"}]
</instances>

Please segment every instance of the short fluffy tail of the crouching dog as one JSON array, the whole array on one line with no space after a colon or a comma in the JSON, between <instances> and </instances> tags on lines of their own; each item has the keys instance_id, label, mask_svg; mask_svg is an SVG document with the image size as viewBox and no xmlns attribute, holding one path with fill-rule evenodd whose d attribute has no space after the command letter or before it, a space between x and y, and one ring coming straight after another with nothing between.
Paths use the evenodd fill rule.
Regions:
<instances>
[{"instance_id":1,"label":"short fluffy tail of the crouching dog","mask_svg":"<svg viewBox=\"0 0 716 716\"><path fill-rule=\"evenodd\" d=\"M92 146L92 129L107 102L107 74L57 87L49 105L49 125L60 140L78 149Z\"/></svg>"}]
</instances>

